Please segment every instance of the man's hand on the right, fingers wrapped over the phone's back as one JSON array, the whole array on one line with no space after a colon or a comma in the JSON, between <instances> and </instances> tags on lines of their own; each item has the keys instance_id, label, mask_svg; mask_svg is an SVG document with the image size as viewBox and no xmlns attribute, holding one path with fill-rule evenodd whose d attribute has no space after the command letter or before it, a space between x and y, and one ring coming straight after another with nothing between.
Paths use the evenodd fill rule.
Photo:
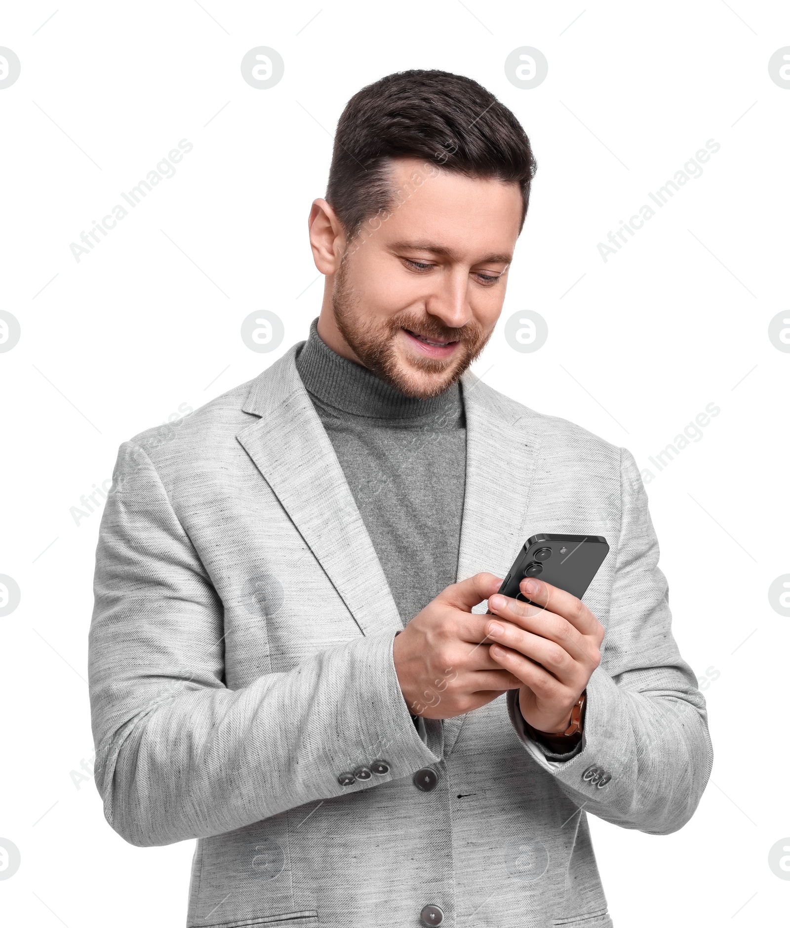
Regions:
<instances>
[{"instance_id":1,"label":"man's hand on the right, fingers wrapped over the phone's back","mask_svg":"<svg viewBox=\"0 0 790 928\"><path fill-rule=\"evenodd\" d=\"M491 658L518 679L521 715L532 728L565 731L570 711L601 663L604 626L577 599L534 577L519 586L529 603L491 596L484 634ZM501 630L500 630L501 629Z\"/></svg>"}]
</instances>

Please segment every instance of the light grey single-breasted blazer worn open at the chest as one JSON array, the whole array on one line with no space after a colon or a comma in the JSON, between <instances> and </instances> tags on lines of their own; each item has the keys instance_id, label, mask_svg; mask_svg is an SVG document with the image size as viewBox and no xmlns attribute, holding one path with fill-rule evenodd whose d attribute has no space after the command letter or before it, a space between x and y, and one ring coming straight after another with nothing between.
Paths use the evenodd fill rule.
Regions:
<instances>
[{"instance_id":1,"label":"light grey single-breasted blazer worn open at the chest","mask_svg":"<svg viewBox=\"0 0 790 928\"><path fill-rule=\"evenodd\" d=\"M572 759L529 740L516 690L421 737L297 348L121 445L89 642L109 824L198 839L189 926L610 925L587 814L675 831L712 761L631 454L466 372L458 579L503 576L538 532L605 535L585 596L605 645Z\"/></svg>"}]
</instances>

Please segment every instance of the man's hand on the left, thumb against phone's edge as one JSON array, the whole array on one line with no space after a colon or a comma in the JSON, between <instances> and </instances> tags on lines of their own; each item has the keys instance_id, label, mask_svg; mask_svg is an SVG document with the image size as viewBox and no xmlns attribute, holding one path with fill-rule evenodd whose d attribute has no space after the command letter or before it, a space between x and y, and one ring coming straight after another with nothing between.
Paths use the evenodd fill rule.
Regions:
<instances>
[{"instance_id":1,"label":"man's hand on the left, thumb against phone's edge","mask_svg":"<svg viewBox=\"0 0 790 928\"><path fill-rule=\"evenodd\" d=\"M501 584L493 574L452 584L395 636L395 671L413 715L452 718L523 686L491 658L488 643L483 643L491 616L471 612Z\"/></svg>"}]
</instances>

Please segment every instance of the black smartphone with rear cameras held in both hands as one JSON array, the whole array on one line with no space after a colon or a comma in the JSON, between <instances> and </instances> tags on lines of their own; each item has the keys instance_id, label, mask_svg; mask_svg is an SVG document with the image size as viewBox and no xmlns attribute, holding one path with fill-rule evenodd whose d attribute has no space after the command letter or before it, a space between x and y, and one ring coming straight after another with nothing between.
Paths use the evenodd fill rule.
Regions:
<instances>
[{"instance_id":1,"label":"black smartphone with rear cameras held in both hands","mask_svg":"<svg viewBox=\"0 0 790 928\"><path fill-rule=\"evenodd\" d=\"M538 605L527 599L518 585L524 577L540 577L581 599L608 553L609 546L601 535L532 535L499 592Z\"/></svg>"}]
</instances>

